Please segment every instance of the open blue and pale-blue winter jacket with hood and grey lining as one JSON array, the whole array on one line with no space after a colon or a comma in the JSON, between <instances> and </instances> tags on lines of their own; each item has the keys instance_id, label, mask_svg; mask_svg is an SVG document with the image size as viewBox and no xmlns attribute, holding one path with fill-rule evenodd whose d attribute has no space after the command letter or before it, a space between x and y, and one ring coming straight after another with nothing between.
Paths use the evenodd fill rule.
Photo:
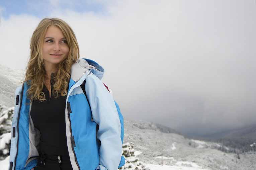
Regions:
<instances>
[{"instance_id":1,"label":"open blue and pale-blue winter jacket with hood and grey lining","mask_svg":"<svg viewBox=\"0 0 256 170\"><path fill-rule=\"evenodd\" d=\"M124 164L119 107L101 82L103 74L104 69L90 59L79 58L71 68L65 120L73 170L117 170ZM80 86L84 80L86 96ZM15 92L9 170L30 170L39 158L40 132L30 116L28 88L23 83Z\"/></svg>"}]
</instances>

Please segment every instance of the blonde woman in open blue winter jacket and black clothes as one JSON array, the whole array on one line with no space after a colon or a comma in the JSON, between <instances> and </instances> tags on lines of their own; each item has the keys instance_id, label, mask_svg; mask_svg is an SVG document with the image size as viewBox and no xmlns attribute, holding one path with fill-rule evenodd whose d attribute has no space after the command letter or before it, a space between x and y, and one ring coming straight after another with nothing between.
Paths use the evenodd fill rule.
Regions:
<instances>
[{"instance_id":1,"label":"blonde woman in open blue winter jacket and black clothes","mask_svg":"<svg viewBox=\"0 0 256 170\"><path fill-rule=\"evenodd\" d=\"M123 122L101 82L104 69L79 57L73 30L45 18L33 32L25 80L16 89L9 170L116 170Z\"/></svg>"}]
</instances>

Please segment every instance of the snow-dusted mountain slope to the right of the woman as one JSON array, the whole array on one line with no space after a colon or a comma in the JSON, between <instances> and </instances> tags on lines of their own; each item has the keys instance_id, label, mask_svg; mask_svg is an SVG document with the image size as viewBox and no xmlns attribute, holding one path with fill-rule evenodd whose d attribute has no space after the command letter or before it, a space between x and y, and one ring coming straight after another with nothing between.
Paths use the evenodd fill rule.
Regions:
<instances>
[{"instance_id":1,"label":"snow-dusted mountain slope to the right of the woman","mask_svg":"<svg viewBox=\"0 0 256 170\"><path fill-rule=\"evenodd\" d=\"M163 133L156 129L138 128L134 125L137 123L124 120L124 143L134 143L135 151L141 152L138 158L145 164L160 165L163 161L164 165L171 166L170 169L186 166L191 167L191 170L255 170L255 153L240 154L238 159L235 153L218 150L221 147L218 143L188 139L180 134ZM147 126L146 121L143 124ZM148 126L154 125L148 122Z\"/></svg>"}]
</instances>

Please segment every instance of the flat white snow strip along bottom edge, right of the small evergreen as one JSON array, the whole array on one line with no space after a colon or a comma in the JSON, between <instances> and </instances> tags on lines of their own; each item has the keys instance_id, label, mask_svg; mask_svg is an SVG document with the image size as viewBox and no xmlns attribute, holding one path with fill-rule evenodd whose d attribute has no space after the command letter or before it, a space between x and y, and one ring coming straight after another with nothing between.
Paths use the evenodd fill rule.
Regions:
<instances>
[{"instance_id":1,"label":"flat white snow strip along bottom edge, right of the small evergreen","mask_svg":"<svg viewBox=\"0 0 256 170\"><path fill-rule=\"evenodd\" d=\"M145 164L146 168L150 170L210 170L196 167L186 167L186 166L169 166L169 165L154 165L154 164Z\"/></svg>"}]
</instances>

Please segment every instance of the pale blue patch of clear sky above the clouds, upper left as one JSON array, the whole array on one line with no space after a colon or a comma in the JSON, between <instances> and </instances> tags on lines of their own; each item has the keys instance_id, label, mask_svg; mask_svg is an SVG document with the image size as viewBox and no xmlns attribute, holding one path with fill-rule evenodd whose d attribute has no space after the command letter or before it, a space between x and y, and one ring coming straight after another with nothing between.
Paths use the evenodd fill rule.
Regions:
<instances>
[{"instance_id":1,"label":"pale blue patch of clear sky above the clouds, upper left","mask_svg":"<svg viewBox=\"0 0 256 170\"><path fill-rule=\"evenodd\" d=\"M1 10L2 9L2 10ZM5 0L0 3L0 14L4 18L10 15L27 14L39 18L49 16L54 10L71 10L77 13L93 12L99 15L105 15L105 5L96 1L32 1L32 0Z\"/></svg>"}]
</instances>

